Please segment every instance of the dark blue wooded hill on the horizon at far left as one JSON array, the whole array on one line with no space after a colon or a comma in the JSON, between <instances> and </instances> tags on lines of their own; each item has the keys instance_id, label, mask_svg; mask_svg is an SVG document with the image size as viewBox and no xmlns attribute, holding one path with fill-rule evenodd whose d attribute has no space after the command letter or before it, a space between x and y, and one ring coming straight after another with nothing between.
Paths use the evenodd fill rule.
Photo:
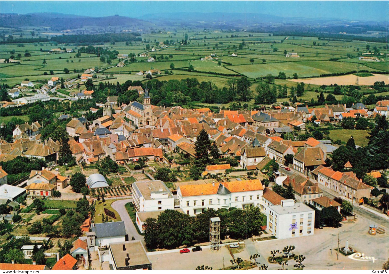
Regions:
<instances>
[{"instance_id":1,"label":"dark blue wooded hill on the horizon at far left","mask_svg":"<svg viewBox=\"0 0 389 274\"><path fill-rule=\"evenodd\" d=\"M61 13L0 14L0 26L46 26L51 30L67 30L83 26L151 26L150 22L124 16L87 17Z\"/></svg>"}]
</instances>

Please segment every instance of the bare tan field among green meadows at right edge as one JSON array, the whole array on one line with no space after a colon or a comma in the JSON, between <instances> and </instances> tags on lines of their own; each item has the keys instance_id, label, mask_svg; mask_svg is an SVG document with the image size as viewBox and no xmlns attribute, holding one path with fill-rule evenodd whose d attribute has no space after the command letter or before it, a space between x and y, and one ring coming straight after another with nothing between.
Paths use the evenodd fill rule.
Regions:
<instances>
[{"instance_id":1,"label":"bare tan field among green meadows at right edge","mask_svg":"<svg viewBox=\"0 0 389 274\"><path fill-rule=\"evenodd\" d=\"M373 74L374 76L369 77L358 77L358 82L360 86L370 86L373 85L374 82L384 81L385 84L389 84L389 75L384 74ZM306 79L290 79L289 81L293 82L304 82L305 84L313 84L313 85L355 85L357 81L357 76L350 75L342 75L342 76L331 76L331 77L320 77L320 78L306 78Z\"/></svg>"}]
</instances>

